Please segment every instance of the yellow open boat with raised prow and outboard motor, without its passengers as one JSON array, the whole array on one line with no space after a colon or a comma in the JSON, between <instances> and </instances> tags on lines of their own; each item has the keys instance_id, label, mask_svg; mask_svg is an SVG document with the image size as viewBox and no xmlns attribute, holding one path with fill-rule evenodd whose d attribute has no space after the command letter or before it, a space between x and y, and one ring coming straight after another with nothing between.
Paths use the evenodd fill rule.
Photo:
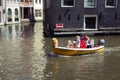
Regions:
<instances>
[{"instance_id":1,"label":"yellow open boat with raised prow and outboard motor, without its passengers","mask_svg":"<svg viewBox=\"0 0 120 80\"><path fill-rule=\"evenodd\" d=\"M53 53L57 55L83 55L83 54L90 54L96 52L104 51L104 43L105 41L102 39L100 40L100 45L92 48L69 48L69 47L60 47L58 46L57 38L53 38Z\"/></svg>"}]
</instances>

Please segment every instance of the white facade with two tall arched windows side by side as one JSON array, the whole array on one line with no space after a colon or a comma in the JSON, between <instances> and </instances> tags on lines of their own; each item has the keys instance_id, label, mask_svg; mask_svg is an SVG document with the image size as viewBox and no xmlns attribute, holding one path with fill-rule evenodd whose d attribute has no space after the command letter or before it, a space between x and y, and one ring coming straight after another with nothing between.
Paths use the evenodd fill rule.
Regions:
<instances>
[{"instance_id":1,"label":"white facade with two tall arched windows side by side","mask_svg":"<svg viewBox=\"0 0 120 80\"><path fill-rule=\"evenodd\" d=\"M5 2L5 23L20 23L19 0L6 0Z\"/></svg>"}]
</instances>

